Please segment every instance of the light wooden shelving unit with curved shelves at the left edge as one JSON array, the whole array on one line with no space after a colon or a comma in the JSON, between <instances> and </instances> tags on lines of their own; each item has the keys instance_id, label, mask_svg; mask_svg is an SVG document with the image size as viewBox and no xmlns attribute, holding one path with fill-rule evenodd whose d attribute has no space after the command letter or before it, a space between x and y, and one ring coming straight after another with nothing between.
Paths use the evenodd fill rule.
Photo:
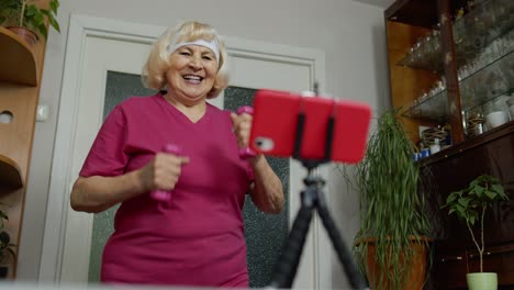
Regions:
<instances>
[{"instance_id":1,"label":"light wooden shelving unit with curved shelves at the left edge","mask_svg":"<svg viewBox=\"0 0 514 290\"><path fill-rule=\"evenodd\" d=\"M48 7L48 0L40 1ZM4 230L20 244L23 204L31 160L46 43L30 47L0 26L0 202L9 221ZM15 278L16 259L8 261L8 278Z\"/></svg>"}]
</instances>

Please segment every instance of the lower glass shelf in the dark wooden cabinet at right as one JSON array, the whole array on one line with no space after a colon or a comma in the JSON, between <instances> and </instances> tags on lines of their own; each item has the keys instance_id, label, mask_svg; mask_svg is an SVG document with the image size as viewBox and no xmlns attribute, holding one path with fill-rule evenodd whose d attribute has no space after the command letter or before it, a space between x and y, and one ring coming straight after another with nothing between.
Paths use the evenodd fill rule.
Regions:
<instances>
[{"instance_id":1,"label":"lower glass shelf in the dark wooden cabinet at right","mask_svg":"<svg viewBox=\"0 0 514 290\"><path fill-rule=\"evenodd\" d=\"M514 51L488 64L460 81L462 111L474 110L514 91ZM444 122L449 119L447 92L428 97L407 109L404 116Z\"/></svg>"}]
</instances>

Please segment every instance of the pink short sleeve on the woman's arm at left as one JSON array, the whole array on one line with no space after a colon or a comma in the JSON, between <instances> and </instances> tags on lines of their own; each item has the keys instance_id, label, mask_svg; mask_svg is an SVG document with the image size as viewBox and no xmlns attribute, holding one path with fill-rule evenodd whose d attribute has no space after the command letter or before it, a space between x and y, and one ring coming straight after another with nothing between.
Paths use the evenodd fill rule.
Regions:
<instances>
[{"instance_id":1,"label":"pink short sleeve on the woman's arm at left","mask_svg":"<svg viewBox=\"0 0 514 290\"><path fill-rule=\"evenodd\" d=\"M116 105L103 122L89 150L81 177L123 175L128 155L124 152L126 119L123 109Z\"/></svg>"}]
</instances>

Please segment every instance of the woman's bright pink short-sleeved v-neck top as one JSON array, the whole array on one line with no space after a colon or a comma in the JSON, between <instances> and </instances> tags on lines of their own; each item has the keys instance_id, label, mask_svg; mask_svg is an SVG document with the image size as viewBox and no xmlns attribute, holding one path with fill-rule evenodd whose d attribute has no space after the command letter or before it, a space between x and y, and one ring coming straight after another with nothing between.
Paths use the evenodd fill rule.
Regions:
<instances>
[{"instance_id":1,"label":"woman's bright pink short-sleeved v-neck top","mask_svg":"<svg viewBox=\"0 0 514 290\"><path fill-rule=\"evenodd\" d=\"M192 123L160 93L130 98L107 118L80 176L120 176L165 144L190 158L169 202L124 201L103 250L103 282L248 287L242 209L253 179L230 112L208 104Z\"/></svg>"}]
</instances>

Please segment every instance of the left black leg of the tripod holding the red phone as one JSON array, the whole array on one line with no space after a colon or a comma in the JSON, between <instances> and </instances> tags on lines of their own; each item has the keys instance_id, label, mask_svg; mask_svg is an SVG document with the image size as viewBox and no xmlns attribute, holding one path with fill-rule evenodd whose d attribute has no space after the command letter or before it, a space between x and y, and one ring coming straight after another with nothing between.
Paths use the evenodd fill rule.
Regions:
<instances>
[{"instance_id":1,"label":"left black leg of the tripod holding the red phone","mask_svg":"<svg viewBox=\"0 0 514 290\"><path fill-rule=\"evenodd\" d=\"M309 196L309 190L302 192L302 207L294 219L288 243L280 255L277 271L269 286L270 288L291 288L292 286L312 219L314 203L313 200L305 201Z\"/></svg>"}]
</instances>

